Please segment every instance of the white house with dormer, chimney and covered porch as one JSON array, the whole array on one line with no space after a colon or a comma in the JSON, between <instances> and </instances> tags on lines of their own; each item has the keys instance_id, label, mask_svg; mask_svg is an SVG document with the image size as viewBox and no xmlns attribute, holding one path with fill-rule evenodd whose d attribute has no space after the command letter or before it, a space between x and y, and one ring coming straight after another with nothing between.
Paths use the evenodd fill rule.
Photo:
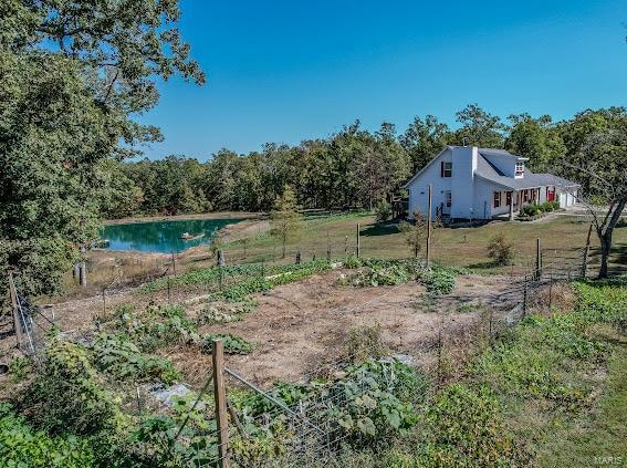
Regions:
<instances>
[{"instance_id":1,"label":"white house with dormer, chimney and covered porch","mask_svg":"<svg viewBox=\"0 0 627 468\"><path fill-rule=\"evenodd\" d=\"M523 205L558 201L575 204L578 185L552 174L525 168L529 158L504 149L447 146L405 185L409 217L428 212L432 186L432 216L454 219L513 219Z\"/></svg>"}]
</instances>

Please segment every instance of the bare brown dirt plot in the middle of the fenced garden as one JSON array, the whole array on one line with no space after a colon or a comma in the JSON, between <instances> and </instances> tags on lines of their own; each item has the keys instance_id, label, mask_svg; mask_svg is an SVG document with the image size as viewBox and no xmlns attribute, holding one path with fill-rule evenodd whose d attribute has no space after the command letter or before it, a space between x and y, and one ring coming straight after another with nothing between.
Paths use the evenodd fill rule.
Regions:
<instances>
[{"instance_id":1,"label":"bare brown dirt plot in the middle of the fenced garden","mask_svg":"<svg viewBox=\"0 0 627 468\"><path fill-rule=\"evenodd\" d=\"M339 285L344 270L332 270L310 279L254 294L258 305L239 322L202 326L201 334L232 333L255 343L248 355L228 356L227 365L261 385L275 381L297 382L342 358L348 331L358 325L379 325L387 347L407 354L417 364L432 357L438 333L454 336L477 324L488 306L502 306L495 297L508 291L508 275L463 274L456 278L452 293L430 298L425 287L409 282L396 287L353 288ZM173 292L171 303L182 303L194 316L205 295ZM167 294L145 295L127 289L106 298L107 311L133 303L167 303ZM54 304L61 330L76 339L94 331L94 318L103 312L102 297ZM51 315L52 309L44 309ZM7 340L4 340L7 341ZM160 351L192 385L200 385L210 371L211 356L196 346Z\"/></svg>"}]
</instances>

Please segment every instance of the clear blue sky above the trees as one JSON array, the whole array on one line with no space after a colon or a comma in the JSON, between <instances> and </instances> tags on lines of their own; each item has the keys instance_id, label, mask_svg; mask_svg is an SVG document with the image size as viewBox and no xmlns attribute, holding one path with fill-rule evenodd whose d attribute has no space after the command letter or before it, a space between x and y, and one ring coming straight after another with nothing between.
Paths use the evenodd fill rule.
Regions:
<instances>
[{"instance_id":1,"label":"clear blue sky above the trees","mask_svg":"<svg viewBox=\"0 0 627 468\"><path fill-rule=\"evenodd\" d=\"M208 159L324 137L359 118L454 125L477 102L508 116L627 104L625 0L181 0L207 73L160 83L146 156Z\"/></svg>"}]
</instances>

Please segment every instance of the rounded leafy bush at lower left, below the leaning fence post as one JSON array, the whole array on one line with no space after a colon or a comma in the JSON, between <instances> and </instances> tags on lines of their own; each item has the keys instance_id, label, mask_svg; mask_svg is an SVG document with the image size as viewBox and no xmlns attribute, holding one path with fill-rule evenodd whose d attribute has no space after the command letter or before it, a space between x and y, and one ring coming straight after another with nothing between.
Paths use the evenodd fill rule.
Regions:
<instances>
[{"instance_id":1,"label":"rounded leafy bush at lower left, below the leaning fence post","mask_svg":"<svg viewBox=\"0 0 627 468\"><path fill-rule=\"evenodd\" d=\"M42 366L18 396L17 407L29 424L50 434L111 433L124 420L87 350L59 336L49 342Z\"/></svg>"}]
</instances>

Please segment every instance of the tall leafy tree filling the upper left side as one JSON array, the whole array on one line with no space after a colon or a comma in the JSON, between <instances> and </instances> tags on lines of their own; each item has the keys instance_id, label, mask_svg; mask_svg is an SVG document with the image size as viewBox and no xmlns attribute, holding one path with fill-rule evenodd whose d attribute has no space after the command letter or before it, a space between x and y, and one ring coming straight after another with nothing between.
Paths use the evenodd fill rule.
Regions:
<instances>
[{"instance_id":1,"label":"tall leafy tree filling the upper left side","mask_svg":"<svg viewBox=\"0 0 627 468\"><path fill-rule=\"evenodd\" d=\"M103 202L132 191L111 162L160 139L134 121L157 103L156 77L203 82L178 15L177 1L2 3L0 269L20 271L22 292L59 292Z\"/></svg>"}]
</instances>

